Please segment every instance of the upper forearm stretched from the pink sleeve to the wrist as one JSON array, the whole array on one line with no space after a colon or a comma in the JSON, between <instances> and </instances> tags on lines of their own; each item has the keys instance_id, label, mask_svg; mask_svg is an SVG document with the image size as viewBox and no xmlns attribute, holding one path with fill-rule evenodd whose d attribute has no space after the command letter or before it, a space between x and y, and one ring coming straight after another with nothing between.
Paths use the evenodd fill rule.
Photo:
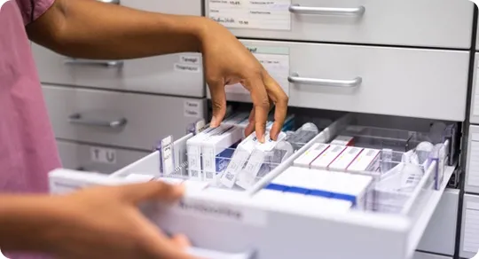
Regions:
<instances>
[{"instance_id":1,"label":"upper forearm stretched from the pink sleeve to the wrist","mask_svg":"<svg viewBox=\"0 0 479 259\"><path fill-rule=\"evenodd\" d=\"M70 57L133 59L200 51L208 22L95 0L56 0L27 31L34 42Z\"/></svg>"}]
</instances>

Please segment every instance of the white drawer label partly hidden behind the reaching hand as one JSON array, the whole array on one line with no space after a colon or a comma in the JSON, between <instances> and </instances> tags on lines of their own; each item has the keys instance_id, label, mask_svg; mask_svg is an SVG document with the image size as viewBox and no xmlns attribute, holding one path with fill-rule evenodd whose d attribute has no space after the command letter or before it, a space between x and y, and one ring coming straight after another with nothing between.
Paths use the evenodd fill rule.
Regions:
<instances>
[{"instance_id":1,"label":"white drawer label partly hidden behind the reaching hand","mask_svg":"<svg viewBox=\"0 0 479 259\"><path fill-rule=\"evenodd\" d=\"M289 76L289 48L254 45L246 45L246 47L289 96L289 82L287 81ZM229 93L249 94L249 91L240 83L228 85L225 90Z\"/></svg>"}]
</instances>

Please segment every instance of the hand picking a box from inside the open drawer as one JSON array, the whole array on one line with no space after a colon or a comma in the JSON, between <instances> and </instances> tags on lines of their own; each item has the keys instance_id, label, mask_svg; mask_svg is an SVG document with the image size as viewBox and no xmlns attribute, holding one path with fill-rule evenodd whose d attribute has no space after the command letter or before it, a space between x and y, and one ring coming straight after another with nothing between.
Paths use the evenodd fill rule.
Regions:
<instances>
[{"instance_id":1,"label":"hand picking a box from inside the open drawer","mask_svg":"<svg viewBox=\"0 0 479 259\"><path fill-rule=\"evenodd\" d=\"M249 90L254 105L245 133L249 135L255 130L258 139L264 142L268 114L276 106L271 129L271 138L276 140L287 116L287 94L225 27L207 20L200 38L203 66L213 103L211 126L217 127L226 113L224 86L240 82Z\"/></svg>"}]
</instances>

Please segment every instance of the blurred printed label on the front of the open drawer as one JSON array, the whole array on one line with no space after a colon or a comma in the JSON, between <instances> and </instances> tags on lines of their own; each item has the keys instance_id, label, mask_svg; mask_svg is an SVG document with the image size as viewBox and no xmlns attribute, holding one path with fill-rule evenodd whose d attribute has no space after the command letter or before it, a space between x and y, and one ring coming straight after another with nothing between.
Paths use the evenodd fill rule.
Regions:
<instances>
[{"instance_id":1,"label":"blurred printed label on the front of the open drawer","mask_svg":"<svg viewBox=\"0 0 479 259\"><path fill-rule=\"evenodd\" d=\"M233 223L255 226L264 226L267 223L267 215L265 211L220 204L210 200L208 200L208 202L200 200L181 200L178 203L178 206L172 209L183 215L208 217Z\"/></svg>"}]
</instances>

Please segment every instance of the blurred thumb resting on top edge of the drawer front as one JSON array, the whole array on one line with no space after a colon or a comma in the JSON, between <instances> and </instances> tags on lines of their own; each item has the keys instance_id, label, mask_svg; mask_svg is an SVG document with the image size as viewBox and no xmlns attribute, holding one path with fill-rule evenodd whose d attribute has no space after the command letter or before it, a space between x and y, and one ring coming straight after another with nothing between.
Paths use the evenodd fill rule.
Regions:
<instances>
[{"instance_id":1,"label":"blurred thumb resting on top edge of the drawer front","mask_svg":"<svg viewBox=\"0 0 479 259\"><path fill-rule=\"evenodd\" d=\"M134 204L147 200L174 202L185 193L183 184L166 184L161 181L151 181L142 184L128 184L119 187L123 200Z\"/></svg>"}]
</instances>

